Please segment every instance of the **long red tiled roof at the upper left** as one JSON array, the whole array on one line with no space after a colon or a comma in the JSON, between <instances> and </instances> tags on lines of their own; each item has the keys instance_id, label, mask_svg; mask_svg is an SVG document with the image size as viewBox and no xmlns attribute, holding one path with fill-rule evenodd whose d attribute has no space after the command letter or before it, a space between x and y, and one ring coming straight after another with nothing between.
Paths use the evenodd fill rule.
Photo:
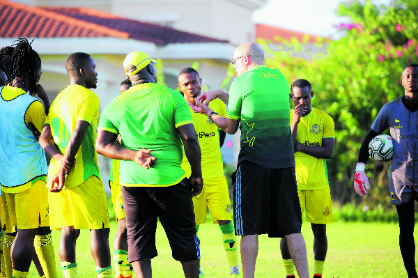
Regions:
<instances>
[{"instance_id":1,"label":"long red tiled roof at the upper left","mask_svg":"<svg viewBox=\"0 0 418 278\"><path fill-rule=\"evenodd\" d=\"M0 37L133 38L156 45L228 43L91 8L36 7L7 0L0 0Z\"/></svg>"}]
</instances>

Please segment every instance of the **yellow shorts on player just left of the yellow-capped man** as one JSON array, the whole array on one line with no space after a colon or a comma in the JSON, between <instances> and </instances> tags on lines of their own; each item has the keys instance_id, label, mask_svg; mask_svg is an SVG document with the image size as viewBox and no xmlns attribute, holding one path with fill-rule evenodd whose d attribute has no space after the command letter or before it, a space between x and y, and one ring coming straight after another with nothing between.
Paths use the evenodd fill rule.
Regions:
<instances>
[{"instance_id":1,"label":"yellow shorts on player just left of the yellow-capped man","mask_svg":"<svg viewBox=\"0 0 418 278\"><path fill-rule=\"evenodd\" d=\"M74 226L75 229L109 228L106 195L97 176L76 187L49 192L51 229Z\"/></svg>"}]
</instances>

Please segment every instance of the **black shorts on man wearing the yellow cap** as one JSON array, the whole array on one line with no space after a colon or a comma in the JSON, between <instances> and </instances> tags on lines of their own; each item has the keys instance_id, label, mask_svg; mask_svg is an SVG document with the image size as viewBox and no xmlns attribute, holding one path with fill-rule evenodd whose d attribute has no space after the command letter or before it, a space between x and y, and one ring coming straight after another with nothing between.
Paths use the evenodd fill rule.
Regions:
<instances>
[{"instance_id":1,"label":"black shorts on man wearing the yellow cap","mask_svg":"<svg viewBox=\"0 0 418 278\"><path fill-rule=\"evenodd\" d=\"M157 217L167 234L175 260L187 262L200 258L192 193L187 179L169 187L122 186L122 194L130 263L157 256Z\"/></svg>"}]
</instances>

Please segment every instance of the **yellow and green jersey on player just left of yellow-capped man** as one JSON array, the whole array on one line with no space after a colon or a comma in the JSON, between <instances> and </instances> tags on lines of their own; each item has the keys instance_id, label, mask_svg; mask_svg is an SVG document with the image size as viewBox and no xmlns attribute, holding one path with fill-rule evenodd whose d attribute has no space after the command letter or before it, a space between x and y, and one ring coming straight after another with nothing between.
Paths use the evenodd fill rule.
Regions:
<instances>
[{"instance_id":1,"label":"yellow and green jersey on player just left of yellow-capped man","mask_svg":"<svg viewBox=\"0 0 418 278\"><path fill-rule=\"evenodd\" d=\"M65 178L64 188L76 187L91 176L100 178L98 153L95 151L96 127L98 125L99 98L88 88L69 85L52 102L45 124L51 126L55 144L65 153L68 141L77 121L90 123L82 145L75 155L75 167ZM48 185L54 173L59 171L59 162L51 159L48 170Z\"/></svg>"}]
</instances>

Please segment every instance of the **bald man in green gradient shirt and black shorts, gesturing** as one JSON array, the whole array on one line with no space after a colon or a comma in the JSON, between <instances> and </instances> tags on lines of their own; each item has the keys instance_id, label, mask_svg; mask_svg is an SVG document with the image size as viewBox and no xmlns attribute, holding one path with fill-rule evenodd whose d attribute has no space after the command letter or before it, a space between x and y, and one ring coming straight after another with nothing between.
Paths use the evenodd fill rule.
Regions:
<instances>
[{"instance_id":1,"label":"bald man in green gradient shirt and black shorts, gesturing","mask_svg":"<svg viewBox=\"0 0 418 278\"><path fill-rule=\"evenodd\" d=\"M263 50L256 43L235 49L231 63L238 77L231 84L226 118L201 103L217 98L217 91L201 94L192 109L206 114L209 121L229 134L234 134L238 125L241 128L233 203L235 234L242 235L244 277L254 277L258 235L263 233L271 238L285 237L299 277L309 277L307 250L300 232L302 215L289 125L289 87L284 75L267 68L263 60Z\"/></svg>"}]
</instances>

